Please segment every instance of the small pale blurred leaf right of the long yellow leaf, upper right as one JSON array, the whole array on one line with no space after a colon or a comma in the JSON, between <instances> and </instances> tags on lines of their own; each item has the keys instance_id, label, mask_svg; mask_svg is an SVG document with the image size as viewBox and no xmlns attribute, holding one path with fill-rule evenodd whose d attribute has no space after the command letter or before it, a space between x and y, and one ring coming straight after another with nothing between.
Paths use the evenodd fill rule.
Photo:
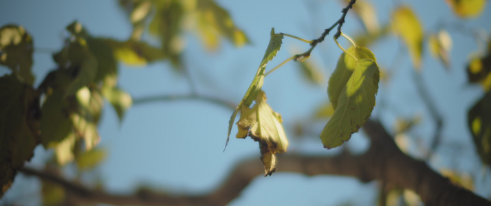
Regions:
<instances>
[{"instance_id":1,"label":"small pale blurred leaf right of the long yellow leaf, upper right","mask_svg":"<svg viewBox=\"0 0 491 206\"><path fill-rule=\"evenodd\" d=\"M437 34L430 34L428 39L430 52L434 58L440 60L446 69L450 68L450 49L452 49L452 38L445 30Z\"/></svg>"}]
</instances>

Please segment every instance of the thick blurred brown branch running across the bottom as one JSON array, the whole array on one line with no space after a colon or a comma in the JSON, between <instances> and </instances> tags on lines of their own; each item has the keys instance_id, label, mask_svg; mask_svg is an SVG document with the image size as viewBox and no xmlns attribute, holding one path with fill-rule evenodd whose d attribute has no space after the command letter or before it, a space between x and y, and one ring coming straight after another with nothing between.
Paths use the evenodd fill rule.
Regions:
<instances>
[{"instance_id":1,"label":"thick blurred brown branch running across the bottom","mask_svg":"<svg viewBox=\"0 0 491 206\"><path fill-rule=\"evenodd\" d=\"M298 172L308 176L334 174L353 176L362 182L382 181L415 191L425 205L491 205L484 198L454 185L423 161L415 160L397 148L391 136L378 122L369 121L364 132L371 146L362 155L342 152L335 157L306 155L279 155L278 172ZM257 158L239 163L223 184L214 192L196 196L170 196L154 192L137 192L130 195L108 194L89 189L78 183L46 171L22 168L24 174L38 176L57 183L65 192L76 198L76 203L108 203L113 205L226 205L261 175L263 165Z\"/></svg>"}]
</instances>

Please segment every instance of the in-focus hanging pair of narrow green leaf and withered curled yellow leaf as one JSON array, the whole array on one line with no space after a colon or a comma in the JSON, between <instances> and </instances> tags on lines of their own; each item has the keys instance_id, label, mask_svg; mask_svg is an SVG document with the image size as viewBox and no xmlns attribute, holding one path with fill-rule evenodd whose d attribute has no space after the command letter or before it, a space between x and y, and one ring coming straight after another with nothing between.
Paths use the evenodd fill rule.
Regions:
<instances>
[{"instance_id":1,"label":"in-focus hanging pair of narrow green leaf and withered curled yellow leaf","mask_svg":"<svg viewBox=\"0 0 491 206\"><path fill-rule=\"evenodd\" d=\"M276 170L276 152L286 152L288 141L281 122L281 115L276 113L266 103L266 95L261 90L265 76L265 69L268 62L276 56L283 43L283 35L275 34L274 28L271 29L270 43L264 53L263 60L259 64L256 76L252 80L246 94L235 108L235 111L228 122L227 142L230 137L232 126L235 122L237 113L241 112L241 117L237 126L237 138L246 138L248 135L259 142L261 150L261 161L265 168L265 176L271 175ZM256 102L250 108L252 102Z\"/></svg>"}]
</instances>

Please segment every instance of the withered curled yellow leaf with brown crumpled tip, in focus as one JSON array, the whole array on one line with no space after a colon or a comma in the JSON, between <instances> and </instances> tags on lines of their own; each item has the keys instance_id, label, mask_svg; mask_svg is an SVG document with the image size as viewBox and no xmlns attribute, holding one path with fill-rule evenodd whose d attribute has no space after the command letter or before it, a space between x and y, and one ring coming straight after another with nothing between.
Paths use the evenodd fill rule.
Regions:
<instances>
[{"instance_id":1,"label":"withered curled yellow leaf with brown crumpled tip, in focus","mask_svg":"<svg viewBox=\"0 0 491 206\"><path fill-rule=\"evenodd\" d=\"M259 142L265 176L271 175L276 170L274 154L287 151L288 140L281 122L283 122L281 115L274 112L266 103L266 95L263 91L257 95L256 104L252 108L242 105L236 137L246 138L250 135L254 141Z\"/></svg>"}]
</instances>

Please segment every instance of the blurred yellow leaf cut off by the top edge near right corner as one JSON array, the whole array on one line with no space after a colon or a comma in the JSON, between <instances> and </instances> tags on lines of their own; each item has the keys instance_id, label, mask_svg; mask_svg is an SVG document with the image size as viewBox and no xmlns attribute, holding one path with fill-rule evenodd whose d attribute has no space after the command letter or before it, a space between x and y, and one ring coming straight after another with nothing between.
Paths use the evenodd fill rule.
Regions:
<instances>
[{"instance_id":1,"label":"blurred yellow leaf cut off by the top edge near right corner","mask_svg":"<svg viewBox=\"0 0 491 206\"><path fill-rule=\"evenodd\" d=\"M453 12L461 18L475 18L486 7L485 0L445 0Z\"/></svg>"}]
</instances>

